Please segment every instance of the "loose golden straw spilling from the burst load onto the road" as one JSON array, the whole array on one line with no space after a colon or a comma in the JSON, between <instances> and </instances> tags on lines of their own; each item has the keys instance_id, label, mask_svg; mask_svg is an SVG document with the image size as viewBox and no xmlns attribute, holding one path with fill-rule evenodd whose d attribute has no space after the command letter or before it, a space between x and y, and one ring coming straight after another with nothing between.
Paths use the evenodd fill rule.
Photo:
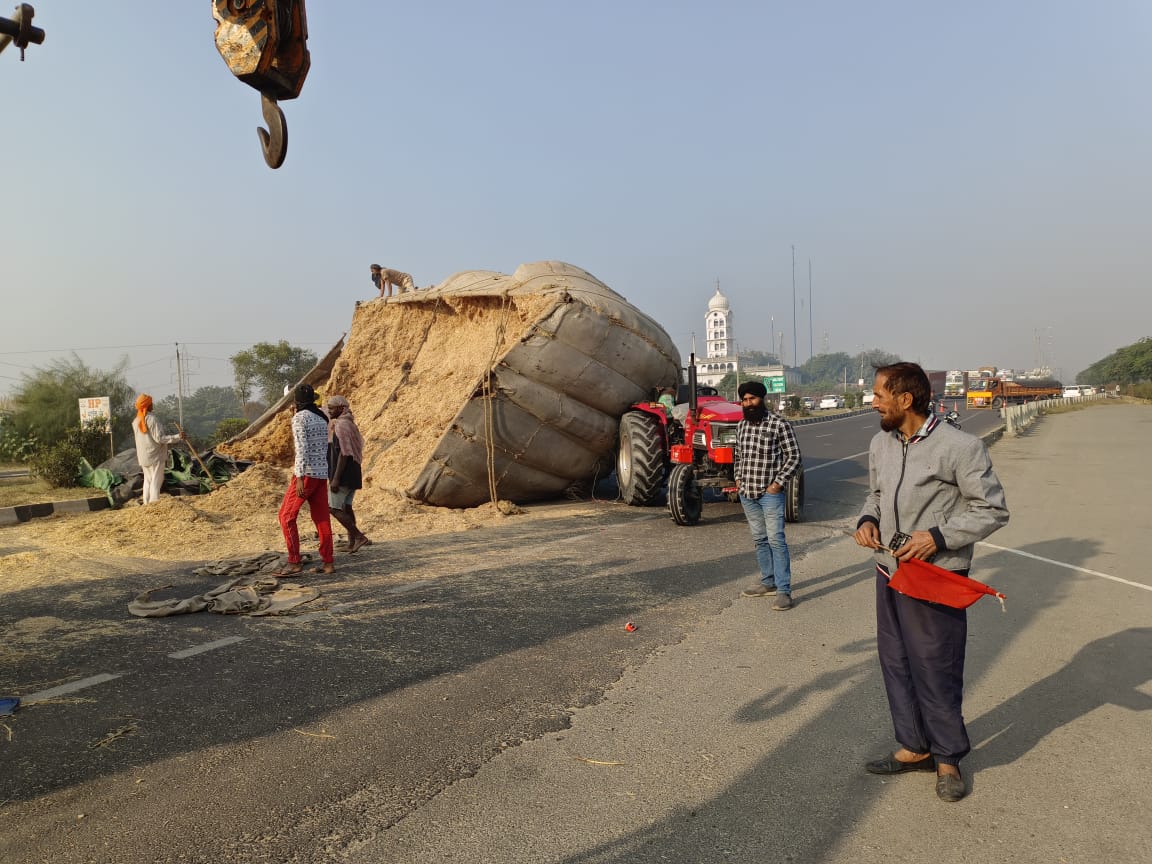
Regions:
<instances>
[{"instance_id":1,"label":"loose golden straw spilling from the burst load onto the road","mask_svg":"<svg viewBox=\"0 0 1152 864\"><path fill-rule=\"evenodd\" d=\"M541 508L525 515L507 501L449 509L406 494L495 359L556 302L535 295L427 297L357 304L332 376L317 387L321 403L331 394L349 399L364 435L364 488L355 509L359 528L373 541L482 529L547 513ZM276 513L293 460L290 417L285 410L251 438L221 447L256 464L211 494L164 497L147 507L137 499L121 510L0 528L0 594L53 573L96 578L89 575L100 569L89 566L93 560L207 563L282 551ZM298 524L303 548L314 551L306 508ZM340 537L335 521L333 529Z\"/></svg>"}]
</instances>

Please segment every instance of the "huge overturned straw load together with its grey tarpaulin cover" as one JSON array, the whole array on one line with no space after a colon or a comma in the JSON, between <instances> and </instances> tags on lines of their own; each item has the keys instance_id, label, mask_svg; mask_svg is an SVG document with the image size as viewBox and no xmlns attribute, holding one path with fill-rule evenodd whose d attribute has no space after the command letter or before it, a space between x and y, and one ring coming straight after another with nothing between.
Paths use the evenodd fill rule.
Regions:
<instances>
[{"instance_id":1,"label":"huge overturned straw load together with its grey tarpaulin cover","mask_svg":"<svg viewBox=\"0 0 1152 864\"><path fill-rule=\"evenodd\" d=\"M680 355L591 274L539 262L357 304L347 344L304 380L350 401L364 498L461 508L553 498L606 473L621 414L679 381ZM290 465L289 408L290 396L221 449Z\"/></svg>"}]
</instances>

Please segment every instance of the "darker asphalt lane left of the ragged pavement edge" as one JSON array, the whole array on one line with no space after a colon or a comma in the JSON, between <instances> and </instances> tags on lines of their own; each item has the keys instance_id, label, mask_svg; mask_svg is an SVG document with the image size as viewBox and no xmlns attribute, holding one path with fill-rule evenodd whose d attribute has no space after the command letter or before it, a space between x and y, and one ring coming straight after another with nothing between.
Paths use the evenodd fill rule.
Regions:
<instances>
[{"instance_id":1,"label":"darker asphalt lane left of the ragged pavement edge","mask_svg":"<svg viewBox=\"0 0 1152 864\"><path fill-rule=\"evenodd\" d=\"M808 520L789 526L797 555L843 536L877 429L871 412L797 429L810 478ZM753 578L738 505L710 503L688 529L662 507L531 510L342 559L316 582L326 607L297 617L127 615L141 590L207 588L190 573L200 562L77 561L106 578L61 573L51 589L9 592L0 695L40 703L6 719L0 850L334 859L507 748L564 728ZM639 629L626 634L626 620ZM29 635L28 622L51 621L53 637Z\"/></svg>"}]
</instances>

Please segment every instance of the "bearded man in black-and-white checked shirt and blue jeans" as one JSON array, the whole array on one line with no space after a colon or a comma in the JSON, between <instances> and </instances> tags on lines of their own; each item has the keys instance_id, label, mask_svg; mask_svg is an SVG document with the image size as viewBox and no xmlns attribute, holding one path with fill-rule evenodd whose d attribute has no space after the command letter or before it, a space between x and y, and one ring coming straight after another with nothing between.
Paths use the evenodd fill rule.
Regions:
<instances>
[{"instance_id":1,"label":"bearded man in black-and-white checked shirt and blue jeans","mask_svg":"<svg viewBox=\"0 0 1152 864\"><path fill-rule=\"evenodd\" d=\"M734 473L752 532L760 583L744 597L775 596L774 612L790 609L791 559L785 539L785 486L799 470L799 445L791 424L768 410L759 381L740 385L744 419L736 426Z\"/></svg>"}]
</instances>

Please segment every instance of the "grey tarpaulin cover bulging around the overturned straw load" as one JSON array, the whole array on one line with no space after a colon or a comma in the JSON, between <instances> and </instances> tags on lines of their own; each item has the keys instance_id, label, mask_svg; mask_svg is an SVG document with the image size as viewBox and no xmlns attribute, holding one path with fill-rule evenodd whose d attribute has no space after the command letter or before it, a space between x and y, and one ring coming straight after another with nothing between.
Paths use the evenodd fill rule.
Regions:
<instances>
[{"instance_id":1,"label":"grey tarpaulin cover bulging around the overturned straw load","mask_svg":"<svg viewBox=\"0 0 1152 864\"><path fill-rule=\"evenodd\" d=\"M590 477L616 445L620 416L680 380L680 351L652 318L596 276L561 262L502 273L457 273L399 303L437 296L536 294L554 303L495 358L492 427L500 494L552 498ZM408 493L441 507L488 500L485 397L477 382Z\"/></svg>"}]
</instances>

